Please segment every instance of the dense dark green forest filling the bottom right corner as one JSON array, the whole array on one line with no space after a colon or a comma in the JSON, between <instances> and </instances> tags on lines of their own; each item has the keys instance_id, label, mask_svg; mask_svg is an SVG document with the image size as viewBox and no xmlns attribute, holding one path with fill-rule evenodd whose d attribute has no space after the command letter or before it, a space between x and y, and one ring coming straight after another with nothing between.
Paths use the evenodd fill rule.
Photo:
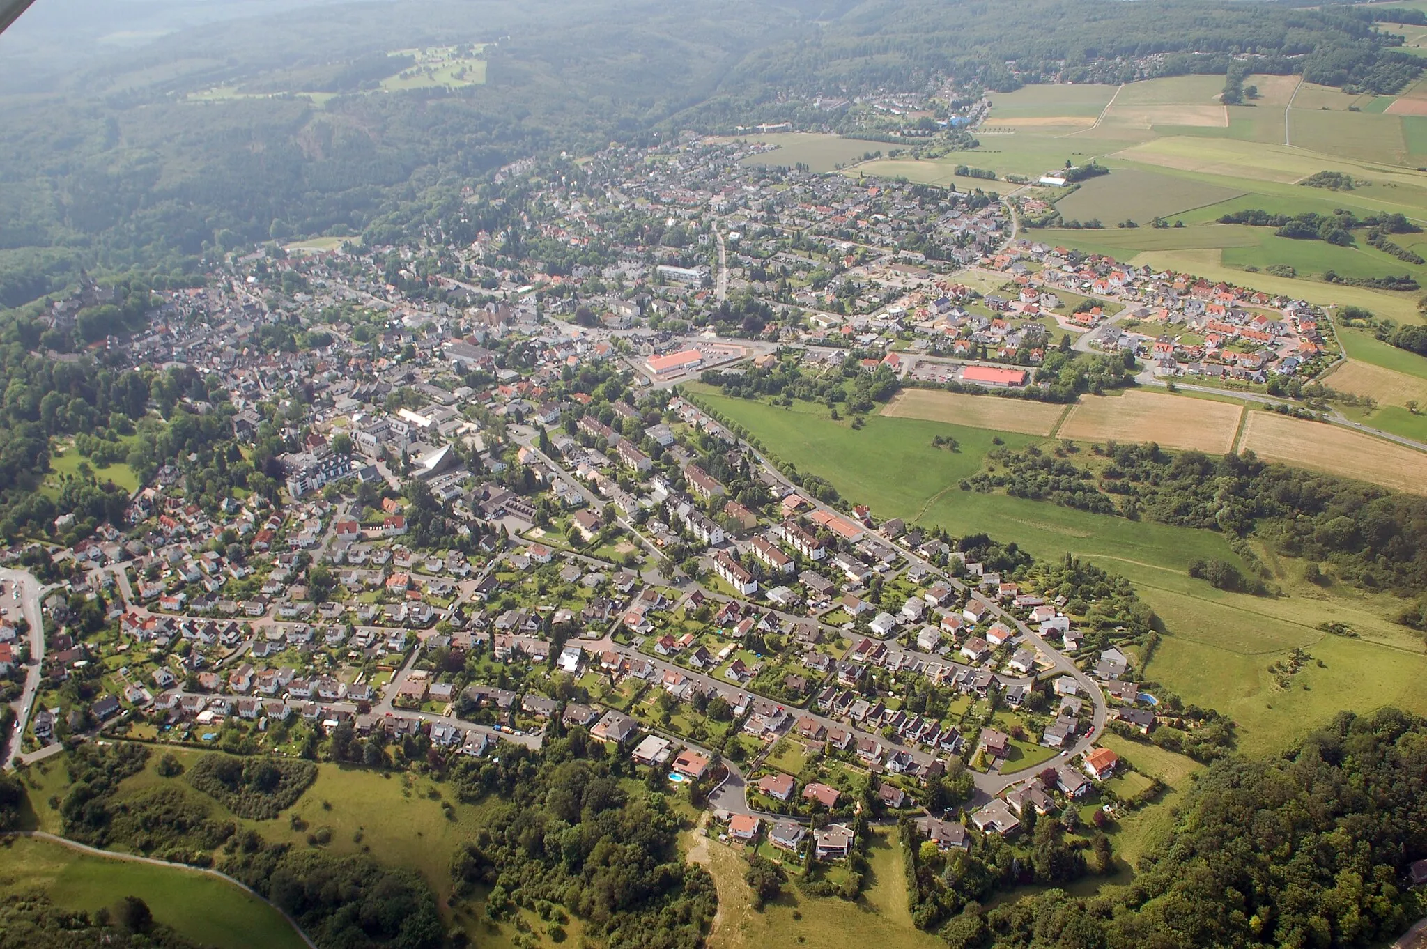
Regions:
<instances>
[{"instance_id":1,"label":"dense dark green forest filling the bottom right corner","mask_svg":"<svg viewBox=\"0 0 1427 949\"><path fill-rule=\"evenodd\" d=\"M940 933L953 949L1381 943L1421 915L1406 873L1427 855L1424 772L1427 721L1343 712L1281 758L1212 765L1129 888L968 900Z\"/></svg>"}]
</instances>

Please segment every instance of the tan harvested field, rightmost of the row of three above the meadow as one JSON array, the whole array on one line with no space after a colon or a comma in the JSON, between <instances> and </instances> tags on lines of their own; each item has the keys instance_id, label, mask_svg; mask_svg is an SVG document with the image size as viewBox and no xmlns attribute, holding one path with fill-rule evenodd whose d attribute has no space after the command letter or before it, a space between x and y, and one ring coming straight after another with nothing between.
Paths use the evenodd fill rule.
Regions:
<instances>
[{"instance_id":1,"label":"tan harvested field, rightmost of the row of three above the meadow","mask_svg":"<svg viewBox=\"0 0 1427 949\"><path fill-rule=\"evenodd\" d=\"M1250 411L1240 450L1384 488L1427 494L1427 455L1341 425Z\"/></svg>"}]
</instances>

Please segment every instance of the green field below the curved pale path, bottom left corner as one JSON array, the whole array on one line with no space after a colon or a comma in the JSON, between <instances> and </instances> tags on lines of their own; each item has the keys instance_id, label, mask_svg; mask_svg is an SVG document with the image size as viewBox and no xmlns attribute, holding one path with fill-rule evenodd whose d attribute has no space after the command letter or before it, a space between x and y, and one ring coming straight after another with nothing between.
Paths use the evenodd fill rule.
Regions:
<instances>
[{"instance_id":1,"label":"green field below the curved pale path, bottom left corner","mask_svg":"<svg viewBox=\"0 0 1427 949\"><path fill-rule=\"evenodd\" d=\"M43 889L56 905L97 910L138 896L154 919L218 949L303 949L303 939L260 899L205 873L90 856L60 843L11 838L0 851L0 893Z\"/></svg>"}]
</instances>

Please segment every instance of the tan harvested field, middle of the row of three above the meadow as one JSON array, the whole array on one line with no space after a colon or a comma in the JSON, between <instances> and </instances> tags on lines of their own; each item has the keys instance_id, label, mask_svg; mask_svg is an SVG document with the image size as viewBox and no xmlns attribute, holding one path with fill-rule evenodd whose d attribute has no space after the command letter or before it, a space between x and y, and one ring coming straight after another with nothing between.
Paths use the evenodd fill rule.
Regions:
<instances>
[{"instance_id":1,"label":"tan harvested field, middle of the row of three above the meadow","mask_svg":"<svg viewBox=\"0 0 1427 949\"><path fill-rule=\"evenodd\" d=\"M1159 392L1086 395L1070 410L1060 438L1153 441L1164 448L1223 454L1233 448L1240 405Z\"/></svg>"}]
</instances>

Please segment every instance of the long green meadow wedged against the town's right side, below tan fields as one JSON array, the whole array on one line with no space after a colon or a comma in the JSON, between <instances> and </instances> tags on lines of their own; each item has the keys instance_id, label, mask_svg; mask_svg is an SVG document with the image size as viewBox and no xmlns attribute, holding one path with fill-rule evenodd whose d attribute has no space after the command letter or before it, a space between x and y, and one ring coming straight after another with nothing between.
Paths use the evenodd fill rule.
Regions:
<instances>
[{"instance_id":1,"label":"long green meadow wedged against the town's right side, below tan fields","mask_svg":"<svg viewBox=\"0 0 1427 949\"><path fill-rule=\"evenodd\" d=\"M1427 712L1427 692L1413 688L1427 676L1427 651L1391 622L1400 609L1393 597L1310 587L1299 579L1301 565L1293 561L1277 564L1276 582L1286 597L1217 591L1190 578L1187 565L1196 558L1239 562L1220 534L960 491L955 479L979 467L990 432L880 415L855 431L828 420L822 407L789 412L712 395L706 387L689 388L799 471L828 478L849 501L870 504L876 517L940 525L955 535L985 531L1039 558L1070 551L1124 575L1167 634L1146 676L1187 702L1233 715L1246 751L1281 749L1341 708L1366 711L1396 702ZM962 457L948 461L919 448L932 432L958 438ZM890 452L888 464L865 462L883 460L882 452ZM1324 621L1346 622L1360 638L1324 634L1316 628ZM1321 654L1324 666L1304 669L1294 691L1281 692L1267 666L1293 648L1307 648L1314 658Z\"/></svg>"}]
</instances>

